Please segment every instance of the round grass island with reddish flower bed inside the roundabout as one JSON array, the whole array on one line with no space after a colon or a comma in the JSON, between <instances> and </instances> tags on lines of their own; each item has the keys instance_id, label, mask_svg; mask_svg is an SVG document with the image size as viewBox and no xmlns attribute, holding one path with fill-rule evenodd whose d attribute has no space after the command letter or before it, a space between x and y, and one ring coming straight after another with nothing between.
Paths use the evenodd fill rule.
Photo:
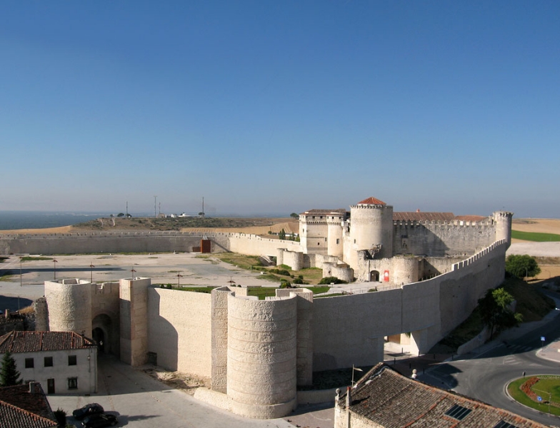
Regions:
<instances>
[{"instance_id":1,"label":"round grass island with reddish flower bed inside the roundabout","mask_svg":"<svg viewBox=\"0 0 560 428\"><path fill-rule=\"evenodd\" d=\"M525 392L521 391L521 385L524 384L530 377L520 377L519 379L510 382L507 389L511 397L521 404L524 404L531 409L538 410L543 413L555 414L560 416L560 408L551 404L549 406L549 399L552 403L560 405L560 377L558 376L538 376L539 382L536 382L531 387L531 390L542 398L542 402L535 402L527 397Z\"/></svg>"}]
</instances>

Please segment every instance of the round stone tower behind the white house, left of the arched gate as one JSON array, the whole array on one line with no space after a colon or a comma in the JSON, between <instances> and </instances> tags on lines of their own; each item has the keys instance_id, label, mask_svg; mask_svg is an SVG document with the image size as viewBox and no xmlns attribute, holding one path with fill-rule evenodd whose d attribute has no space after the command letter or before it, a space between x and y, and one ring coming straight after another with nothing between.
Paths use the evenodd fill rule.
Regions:
<instances>
[{"instance_id":1,"label":"round stone tower behind the white house, left of the arched gate","mask_svg":"<svg viewBox=\"0 0 560 428\"><path fill-rule=\"evenodd\" d=\"M91 287L91 282L77 279L45 281L49 330L91 337Z\"/></svg>"}]
</instances>

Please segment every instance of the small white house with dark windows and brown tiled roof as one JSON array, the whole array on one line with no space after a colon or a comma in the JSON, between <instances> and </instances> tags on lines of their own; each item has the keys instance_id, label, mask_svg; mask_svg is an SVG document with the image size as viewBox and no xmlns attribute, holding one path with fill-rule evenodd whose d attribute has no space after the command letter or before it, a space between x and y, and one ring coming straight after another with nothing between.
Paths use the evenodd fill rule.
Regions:
<instances>
[{"instance_id":1,"label":"small white house with dark windows and brown tiled roof","mask_svg":"<svg viewBox=\"0 0 560 428\"><path fill-rule=\"evenodd\" d=\"M75 332L9 332L0 356L10 352L21 379L39 382L47 394L97 392L97 346Z\"/></svg>"}]
</instances>

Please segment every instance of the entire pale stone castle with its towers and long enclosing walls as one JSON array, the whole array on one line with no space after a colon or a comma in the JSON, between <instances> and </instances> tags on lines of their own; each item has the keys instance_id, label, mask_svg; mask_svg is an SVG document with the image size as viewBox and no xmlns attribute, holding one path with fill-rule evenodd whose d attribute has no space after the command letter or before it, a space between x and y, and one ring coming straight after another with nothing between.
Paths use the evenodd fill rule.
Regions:
<instances>
[{"instance_id":1,"label":"entire pale stone castle with its towers and long enclosing walls","mask_svg":"<svg viewBox=\"0 0 560 428\"><path fill-rule=\"evenodd\" d=\"M301 242L204 233L212 251L274 255L294 270L385 283L378 292L314 299L305 288L256 300L246 288L211 294L152 287L149 278L103 284L45 282L37 330L93 337L131 365L156 362L211 377L209 401L245 417L289 414L313 372L382 361L386 339L427 352L479 297L504 280L512 213L461 218L393 213L369 198L346 210L300 215ZM4 253L192 251L196 233L86 233L0 238ZM6 251L7 250L7 251Z\"/></svg>"}]
</instances>

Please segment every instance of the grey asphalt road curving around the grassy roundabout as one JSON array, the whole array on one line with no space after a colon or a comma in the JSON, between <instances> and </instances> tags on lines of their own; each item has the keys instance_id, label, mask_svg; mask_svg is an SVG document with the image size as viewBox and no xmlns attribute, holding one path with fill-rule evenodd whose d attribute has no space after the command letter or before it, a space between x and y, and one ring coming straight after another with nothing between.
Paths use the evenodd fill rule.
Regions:
<instances>
[{"instance_id":1,"label":"grey asphalt road curving around the grassy roundabout","mask_svg":"<svg viewBox=\"0 0 560 428\"><path fill-rule=\"evenodd\" d=\"M521 377L524 372L527 376L560 374L560 359L551 361L537 356L543 347L541 337L546 339L545 346L560 339L559 315L560 311L556 311L551 321L515 340L494 342L493 347L483 347L479 353L467 355L464 360L439 365L421 380L453 389L459 394L521 414L537 422L560 427L560 417L529 409L506 394L506 385Z\"/></svg>"}]
</instances>

